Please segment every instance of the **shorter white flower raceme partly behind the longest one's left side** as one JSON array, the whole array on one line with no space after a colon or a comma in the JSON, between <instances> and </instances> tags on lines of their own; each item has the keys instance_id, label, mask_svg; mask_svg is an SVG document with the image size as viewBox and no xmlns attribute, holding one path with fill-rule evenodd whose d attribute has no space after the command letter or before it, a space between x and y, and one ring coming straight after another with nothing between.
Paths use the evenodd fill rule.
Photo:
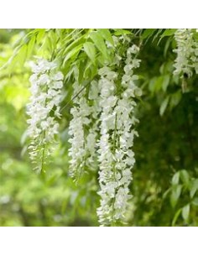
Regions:
<instances>
[{"instance_id":1,"label":"shorter white flower raceme partly behind the longest one's left side","mask_svg":"<svg viewBox=\"0 0 198 256\"><path fill-rule=\"evenodd\" d=\"M78 181L86 170L96 170L96 137L99 112L98 87L91 81L89 96L77 82L74 83L74 106L70 109L69 149L70 175ZM81 91L81 93L79 93ZM89 103L92 103L91 106Z\"/></svg>"}]
</instances>

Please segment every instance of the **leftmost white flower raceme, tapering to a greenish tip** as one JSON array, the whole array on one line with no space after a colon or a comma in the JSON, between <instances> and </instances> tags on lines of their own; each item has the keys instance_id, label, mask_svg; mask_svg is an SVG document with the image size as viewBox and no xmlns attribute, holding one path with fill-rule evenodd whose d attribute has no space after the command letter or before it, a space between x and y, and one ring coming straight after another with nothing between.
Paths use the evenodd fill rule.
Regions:
<instances>
[{"instance_id":1,"label":"leftmost white flower raceme, tapering to a greenish tip","mask_svg":"<svg viewBox=\"0 0 198 256\"><path fill-rule=\"evenodd\" d=\"M57 71L55 62L39 59L32 65L34 74L30 76L31 82L30 102L27 113L29 115L28 135L31 139L29 145L30 159L35 170L44 171L44 164L49 158L58 133L60 118L61 88L63 74Z\"/></svg>"}]
</instances>

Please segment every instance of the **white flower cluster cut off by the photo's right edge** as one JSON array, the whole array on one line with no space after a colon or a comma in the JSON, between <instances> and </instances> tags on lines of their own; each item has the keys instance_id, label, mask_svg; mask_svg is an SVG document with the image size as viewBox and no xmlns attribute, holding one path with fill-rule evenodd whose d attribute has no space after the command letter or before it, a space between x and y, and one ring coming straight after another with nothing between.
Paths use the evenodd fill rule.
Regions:
<instances>
[{"instance_id":1,"label":"white flower cluster cut off by the photo's right edge","mask_svg":"<svg viewBox=\"0 0 198 256\"><path fill-rule=\"evenodd\" d=\"M198 74L198 43L193 38L192 29L177 29L175 40L177 57L174 74L190 77L194 70Z\"/></svg>"}]
</instances>

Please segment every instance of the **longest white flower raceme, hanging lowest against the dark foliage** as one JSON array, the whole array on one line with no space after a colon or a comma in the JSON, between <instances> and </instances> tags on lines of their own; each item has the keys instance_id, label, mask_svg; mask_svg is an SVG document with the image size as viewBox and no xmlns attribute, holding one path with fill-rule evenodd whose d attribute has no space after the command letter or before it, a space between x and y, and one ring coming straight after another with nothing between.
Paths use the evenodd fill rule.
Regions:
<instances>
[{"instance_id":1,"label":"longest white flower raceme, hanging lowest against the dark foliage","mask_svg":"<svg viewBox=\"0 0 198 256\"><path fill-rule=\"evenodd\" d=\"M98 194L102 199L97 215L102 225L122 221L131 198L128 185L135 163L133 138L138 135L133 128L138 122L134 117L134 98L140 94L134 83L138 76L133 74L140 63L135 58L137 54L138 46L128 48L121 84L117 80L117 72L111 71L109 67L99 71L102 113L101 138L98 143L101 191Z\"/></svg>"}]
</instances>

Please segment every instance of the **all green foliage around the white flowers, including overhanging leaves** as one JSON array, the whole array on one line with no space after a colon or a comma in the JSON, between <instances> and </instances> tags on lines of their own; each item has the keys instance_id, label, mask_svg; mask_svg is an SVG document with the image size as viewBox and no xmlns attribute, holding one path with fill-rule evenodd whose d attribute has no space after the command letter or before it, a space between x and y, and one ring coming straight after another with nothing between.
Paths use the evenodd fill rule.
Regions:
<instances>
[{"instance_id":1,"label":"all green foliage around the white flowers, including overhanging leaves","mask_svg":"<svg viewBox=\"0 0 198 256\"><path fill-rule=\"evenodd\" d=\"M195 32L195 31L194 31ZM198 77L173 76L175 29L0 29L0 225L98 226L97 172L69 176L72 83L111 65L113 35L140 45L136 165L128 226L198 225ZM197 37L197 32L195 32ZM107 44L112 45L108 48ZM122 52L122 49L119 49ZM57 60L65 74L60 146L45 177L27 154L29 60Z\"/></svg>"}]
</instances>

